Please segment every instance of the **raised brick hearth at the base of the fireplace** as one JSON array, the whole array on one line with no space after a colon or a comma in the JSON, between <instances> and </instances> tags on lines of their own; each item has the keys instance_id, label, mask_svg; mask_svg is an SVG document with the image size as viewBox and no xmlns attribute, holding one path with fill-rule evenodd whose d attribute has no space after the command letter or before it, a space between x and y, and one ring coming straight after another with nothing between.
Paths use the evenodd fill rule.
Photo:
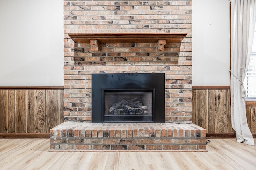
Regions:
<instances>
[{"instance_id":1,"label":"raised brick hearth at the base of the fireplace","mask_svg":"<svg viewBox=\"0 0 256 170\"><path fill-rule=\"evenodd\" d=\"M177 123L66 122L50 131L51 151L206 151L206 130Z\"/></svg>"}]
</instances>

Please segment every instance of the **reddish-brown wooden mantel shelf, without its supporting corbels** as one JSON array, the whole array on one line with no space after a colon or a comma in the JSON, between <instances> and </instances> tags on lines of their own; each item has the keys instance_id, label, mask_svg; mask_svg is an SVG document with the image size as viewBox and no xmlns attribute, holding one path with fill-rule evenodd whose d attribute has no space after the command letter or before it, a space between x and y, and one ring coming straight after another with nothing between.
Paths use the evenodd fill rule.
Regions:
<instances>
[{"instance_id":1,"label":"reddish-brown wooden mantel shelf, without its supporting corbels","mask_svg":"<svg viewBox=\"0 0 256 170\"><path fill-rule=\"evenodd\" d=\"M165 40L166 43L181 43L187 33L68 33L75 43L90 43L97 40L99 43L157 43Z\"/></svg>"}]
</instances>

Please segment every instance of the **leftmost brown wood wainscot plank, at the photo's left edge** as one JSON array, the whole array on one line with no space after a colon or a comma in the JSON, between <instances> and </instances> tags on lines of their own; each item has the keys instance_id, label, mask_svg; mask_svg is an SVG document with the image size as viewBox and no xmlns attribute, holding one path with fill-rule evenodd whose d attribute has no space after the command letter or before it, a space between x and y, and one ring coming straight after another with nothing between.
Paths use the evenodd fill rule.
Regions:
<instances>
[{"instance_id":1,"label":"leftmost brown wood wainscot plank, at the photo's left edge","mask_svg":"<svg viewBox=\"0 0 256 170\"><path fill-rule=\"evenodd\" d=\"M0 90L0 133L8 132L8 91Z\"/></svg>"}]
</instances>

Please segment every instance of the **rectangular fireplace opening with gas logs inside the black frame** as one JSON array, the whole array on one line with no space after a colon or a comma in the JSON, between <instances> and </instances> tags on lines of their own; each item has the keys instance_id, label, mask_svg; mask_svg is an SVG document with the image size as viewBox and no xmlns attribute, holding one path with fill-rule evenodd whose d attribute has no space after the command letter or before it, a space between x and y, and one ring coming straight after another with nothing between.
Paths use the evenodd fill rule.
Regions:
<instances>
[{"instance_id":1,"label":"rectangular fireplace opening with gas logs inside the black frame","mask_svg":"<svg viewBox=\"0 0 256 170\"><path fill-rule=\"evenodd\" d=\"M154 89L104 89L104 122L153 122Z\"/></svg>"}]
</instances>

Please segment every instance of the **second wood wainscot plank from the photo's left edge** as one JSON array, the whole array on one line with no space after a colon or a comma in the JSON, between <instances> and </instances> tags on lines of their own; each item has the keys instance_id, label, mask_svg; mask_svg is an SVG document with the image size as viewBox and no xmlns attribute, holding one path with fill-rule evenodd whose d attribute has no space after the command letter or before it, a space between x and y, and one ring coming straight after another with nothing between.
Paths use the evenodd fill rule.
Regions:
<instances>
[{"instance_id":1,"label":"second wood wainscot plank from the photo's left edge","mask_svg":"<svg viewBox=\"0 0 256 170\"><path fill-rule=\"evenodd\" d=\"M15 90L8 90L8 133L15 132Z\"/></svg>"}]
</instances>

